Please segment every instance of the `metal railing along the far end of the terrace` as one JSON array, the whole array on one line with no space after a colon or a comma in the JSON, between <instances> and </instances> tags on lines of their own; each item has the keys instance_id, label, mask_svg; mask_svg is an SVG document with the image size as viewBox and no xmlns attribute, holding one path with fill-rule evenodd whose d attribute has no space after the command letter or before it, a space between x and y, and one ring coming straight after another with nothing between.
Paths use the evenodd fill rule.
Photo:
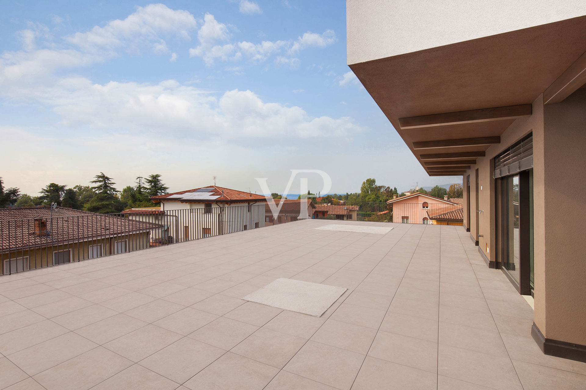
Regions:
<instances>
[{"instance_id":1,"label":"metal railing along the far end of the terrace","mask_svg":"<svg viewBox=\"0 0 586 390\"><path fill-rule=\"evenodd\" d=\"M357 208L357 210L352 208ZM324 215L324 209L327 211L326 215ZM394 202L389 204L360 202L339 206L322 204L316 209L314 218L428 225L462 225L463 222L461 204L440 202Z\"/></svg>"}]
</instances>

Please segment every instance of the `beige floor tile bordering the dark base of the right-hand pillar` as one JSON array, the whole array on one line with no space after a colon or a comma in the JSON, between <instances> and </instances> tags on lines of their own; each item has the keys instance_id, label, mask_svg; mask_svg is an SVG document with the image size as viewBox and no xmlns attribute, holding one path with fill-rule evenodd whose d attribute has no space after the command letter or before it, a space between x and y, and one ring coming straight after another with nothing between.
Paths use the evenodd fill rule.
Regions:
<instances>
[{"instance_id":1,"label":"beige floor tile bordering the dark base of the right-hand pillar","mask_svg":"<svg viewBox=\"0 0 586 390\"><path fill-rule=\"evenodd\" d=\"M533 337L515 336L513 334L501 334L501 336L512 360L520 360L526 363L539 364L557 368L558 370L586 375L586 363L546 355L541 352Z\"/></svg>"}]
</instances>

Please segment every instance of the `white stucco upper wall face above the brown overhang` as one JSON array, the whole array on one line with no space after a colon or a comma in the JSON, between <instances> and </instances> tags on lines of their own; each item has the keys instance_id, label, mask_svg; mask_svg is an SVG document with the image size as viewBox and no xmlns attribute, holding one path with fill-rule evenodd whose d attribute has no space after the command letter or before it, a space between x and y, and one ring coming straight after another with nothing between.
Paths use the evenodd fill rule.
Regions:
<instances>
[{"instance_id":1,"label":"white stucco upper wall face above the brown overhang","mask_svg":"<svg viewBox=\"0 0 586 390\"><path fill-rule=\"evenodd\" d=\"M347 63L583 15L584 0L346 0Z\"/></svg>"}]
</instances>

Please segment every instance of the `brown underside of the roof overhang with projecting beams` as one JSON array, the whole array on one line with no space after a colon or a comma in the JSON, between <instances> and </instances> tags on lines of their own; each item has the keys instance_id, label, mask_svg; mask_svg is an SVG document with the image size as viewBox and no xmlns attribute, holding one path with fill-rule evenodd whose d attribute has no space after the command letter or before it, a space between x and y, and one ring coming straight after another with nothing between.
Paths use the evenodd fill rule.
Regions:
<instances>
[{"instance_id":1,"label":"brown underside of the roof overhang with projecting beams","mask_svg":"<svg viewBox=\"0 0 586 390\"><path fill-rule=\"evenodd\" d=\"M349 36L349 53L352 42ZM586 16L579 16L349 67L428 174L438 175L424 164L430 155L469 165L472 152L499 143L517 118L531 115L550 86L584 84L585 51ZM582 78L562 77L572 66Z\"/></svg>"}]
</instances>

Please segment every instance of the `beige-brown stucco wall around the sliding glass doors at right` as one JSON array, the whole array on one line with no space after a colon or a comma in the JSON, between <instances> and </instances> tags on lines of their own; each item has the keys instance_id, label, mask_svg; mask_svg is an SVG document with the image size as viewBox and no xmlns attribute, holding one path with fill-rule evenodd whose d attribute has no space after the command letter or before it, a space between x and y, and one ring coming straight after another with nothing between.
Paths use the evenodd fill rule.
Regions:
<instances>
[{"instance_id":1,"label":"beige-brown stucco wall around the sliding glass doors at right","mask_svg":"<svg viewBox=\"0 0 586 390\"><path fill-rule=\"evenodd\" d=\"M586 344L586 261L582 241L582 218L586 209L586 89L578 89L565 101L543 105L533 102L533 114L517 119L491 146L486 157L464 175L470 175L471 218L474 237L479 218L479 248L490 261L497 261L495 180L493 158L529 133L533 133L534 220L534 322L548 339ZM479 170L479 209L475 212L475 170ZM466 213L464 196L464 213ZM487 251L488 247L488 251Z\"/></svg>"}]
</instances>

